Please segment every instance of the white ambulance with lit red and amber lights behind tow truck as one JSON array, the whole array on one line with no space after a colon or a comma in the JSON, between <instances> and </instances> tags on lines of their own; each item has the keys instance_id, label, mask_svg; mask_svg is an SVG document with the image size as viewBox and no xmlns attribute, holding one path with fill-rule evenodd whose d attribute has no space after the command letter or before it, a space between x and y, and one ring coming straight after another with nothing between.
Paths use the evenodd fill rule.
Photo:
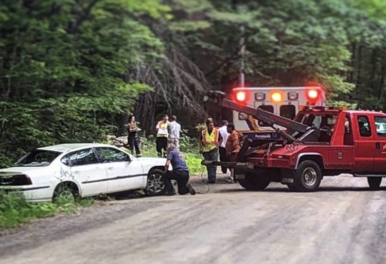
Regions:
<instances>
[{"instance_id":1,"label":"white ambulance with lit red and amber lights behind tow truck","mask_svg":"<svg viewBox=\"0 0 386 264\"><path fill-rule=\"evenodd\" d=\"M326 97L321 85L304 87L248 87L233 89L233 100L293 119L304 105L324 106ZM236 130L251 139L279 139L280 135L252 116L233 111ZM275 126L275 128L280 128ZM280 128L283 129L283 128Z\"/></svg>"}]
</instances>

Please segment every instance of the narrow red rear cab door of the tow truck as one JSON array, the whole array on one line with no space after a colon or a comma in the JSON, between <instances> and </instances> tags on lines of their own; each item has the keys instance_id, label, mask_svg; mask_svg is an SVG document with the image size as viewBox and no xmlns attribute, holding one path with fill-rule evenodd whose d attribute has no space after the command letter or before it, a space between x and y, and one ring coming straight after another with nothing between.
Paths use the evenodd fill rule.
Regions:
<instances>
[{"instance_id":1,"label":"narrow red rear cab door of the tow truck","mask_svg":"<svg viewBox=\"0 0 386 264\"><path fill-rule=\"evenodd\" d=\"M370 172L374 170L375 141L374 129L367 115L354 115L355 135L355 172Z\"/></svg>"}]
</instances>

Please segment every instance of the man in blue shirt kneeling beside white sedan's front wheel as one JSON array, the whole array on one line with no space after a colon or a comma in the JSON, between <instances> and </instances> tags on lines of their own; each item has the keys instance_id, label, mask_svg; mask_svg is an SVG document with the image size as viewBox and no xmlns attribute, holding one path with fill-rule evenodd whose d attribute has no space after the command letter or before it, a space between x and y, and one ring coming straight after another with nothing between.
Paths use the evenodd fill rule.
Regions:
<instances>
[{"instance_id":1,"label":"man in blue shirt kneeling beside white sedan's front wheel","mask_svg":"<svg viewBox=\"0 0 386 264\"><path fill-rule=\"evenodd\" d=\"M169 166L173 167L173 170L169 171ZM178 193L180 195L186 195L190 193L191 195L196 194L196 190L191 187L188 183L189 181L189 168L181 155L181 153L176 150L176 145L169 144L168 146L168 156L165 164L165 174L162 177L163 182L165 183L165 195L175 195L173 185L171 180L176 180L178 185Z\"/></svg>"}]
</instances>

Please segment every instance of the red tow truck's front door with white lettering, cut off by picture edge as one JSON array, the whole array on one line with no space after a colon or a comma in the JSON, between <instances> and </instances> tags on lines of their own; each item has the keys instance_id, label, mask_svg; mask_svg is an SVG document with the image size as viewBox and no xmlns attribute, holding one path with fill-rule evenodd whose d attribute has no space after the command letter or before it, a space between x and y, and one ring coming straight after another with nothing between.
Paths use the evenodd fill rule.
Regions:
<instances>
[{"instance_id":1,"label":"red tow truck's front door with white lettering, cut off by picture edge","mask_svg":"<svg viewBox=\"0 0 386 264\"><path fill-rule=\"evenodd\" d=\"M386 116L374 116L375 156L374 168L386 173Z\"/></svg>"}]
</instances>

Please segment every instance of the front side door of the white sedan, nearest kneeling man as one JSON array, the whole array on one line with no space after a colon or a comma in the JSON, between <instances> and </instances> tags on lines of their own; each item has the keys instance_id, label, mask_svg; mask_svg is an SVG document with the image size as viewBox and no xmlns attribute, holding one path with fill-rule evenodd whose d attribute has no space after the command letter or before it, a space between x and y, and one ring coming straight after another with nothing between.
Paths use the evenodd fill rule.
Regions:
<instances>
[{"instance_id":1,"label":"front side door of the white sedan, nearest kneeling man","mask_svg":"<svg viewBox=\"0 0 386 264\"><path fill-rule=\"evenodd\" d=\"M95 148L107 170L108 192L139 189L144 186L146 174L139 161L116 148Z\"/></svg>"}]
</instances>

